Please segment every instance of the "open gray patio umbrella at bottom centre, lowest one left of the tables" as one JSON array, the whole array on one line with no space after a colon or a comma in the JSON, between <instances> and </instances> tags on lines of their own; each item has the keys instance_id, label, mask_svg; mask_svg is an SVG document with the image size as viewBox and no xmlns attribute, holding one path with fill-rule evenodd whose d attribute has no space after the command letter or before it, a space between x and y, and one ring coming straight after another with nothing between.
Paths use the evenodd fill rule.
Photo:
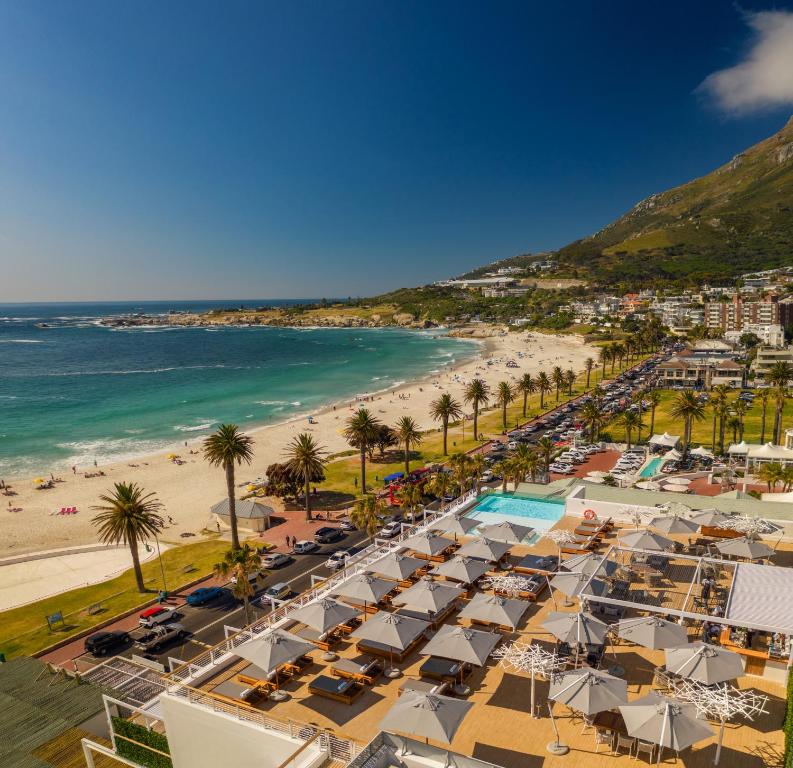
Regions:
<instances>
[{"instance_id":1,"label":"open gray patio umbrella at bottom centre, lowest one left of the tables","mask_svg":"<svg viewBox=\"0 0 793 768\"><path fill-rule=\"evenodd\" d=\"M380 728L451 744L472 706L449 696L405 691L380 721Z\"/></svg>"}]
</instances>

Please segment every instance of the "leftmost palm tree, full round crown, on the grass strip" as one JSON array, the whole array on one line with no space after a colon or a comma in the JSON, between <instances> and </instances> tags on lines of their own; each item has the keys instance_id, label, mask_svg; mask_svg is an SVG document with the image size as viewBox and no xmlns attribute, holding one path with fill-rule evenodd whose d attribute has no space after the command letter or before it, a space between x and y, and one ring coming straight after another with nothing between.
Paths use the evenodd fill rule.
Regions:
<instances>
[{"instance_id":1,"label":"leftmost palm tree, full round crown, on the grass strip","mask_svg":"<svg viewBox=\"0 0 793 768\"><path fill-rule=\"evenodd\" d=\"M98 528L103 544L126 544L132 555L132 569L138 592L145 592L143 572L140 569L138 544L157 537L164 521L159 515L162 504L153 493L144 493L137 483L116 483L113 491L99 497L104 504L92 509L99 514L91 522Z\"/></svg>"}]
</instances>

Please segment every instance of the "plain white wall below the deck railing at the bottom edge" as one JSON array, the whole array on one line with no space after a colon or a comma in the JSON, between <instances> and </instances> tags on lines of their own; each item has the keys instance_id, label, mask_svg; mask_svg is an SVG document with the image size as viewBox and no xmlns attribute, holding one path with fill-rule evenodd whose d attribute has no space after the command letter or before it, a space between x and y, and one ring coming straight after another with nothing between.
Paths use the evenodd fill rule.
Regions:
<instances>
[{"instance_id":1,"label":"plain white wall below the deck railing at the bottom edge","mask_svg":"<svg viewBox=\"0 0 793 768\"><path fill-rule=\"evenodd\" d=\"M276 768L303 743L167 693L160 702L174 768ZM309 747L301 763L317 752Z\"/></svg>"}]
</instances>

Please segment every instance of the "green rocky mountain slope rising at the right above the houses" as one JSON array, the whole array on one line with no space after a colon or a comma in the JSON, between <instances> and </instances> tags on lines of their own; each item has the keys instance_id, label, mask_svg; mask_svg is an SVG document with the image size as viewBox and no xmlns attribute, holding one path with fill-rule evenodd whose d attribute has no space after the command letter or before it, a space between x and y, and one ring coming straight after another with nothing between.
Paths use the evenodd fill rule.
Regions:
<instances>
[{"instance_id":1,"label":"green rocky mountain slope rising at the right above the houses","mask_svg":"<svg viewBox=\"0 0 793 768\"><path fill-rule=\"evenodd\" d=\"M642 200L558 254L599 283L723 280L793 264L793 118L707 176Z\"/></svg>"}]
</instances>

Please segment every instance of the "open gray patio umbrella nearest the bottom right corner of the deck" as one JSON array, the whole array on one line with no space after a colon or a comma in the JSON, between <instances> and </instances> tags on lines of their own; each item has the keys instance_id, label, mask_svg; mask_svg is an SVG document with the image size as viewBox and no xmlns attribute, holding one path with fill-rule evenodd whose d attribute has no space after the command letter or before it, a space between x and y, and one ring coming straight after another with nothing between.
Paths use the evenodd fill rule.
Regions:
<instances>
[{"instance_id":1,"label":"open gray patio umbrella nearest the bottom right corner of the deck","mask_svg":"<svg viewBox=\"0 0 793 768\"><path fill-rule=\"evenodd\" d=\"M660 748L680 751L713 736L711 728L697 719L693 704L684 704L656 693L623 704L620 712L630 736L658 744ZM658 762L661 762L660 749Z\"/></svg>"}]
</instances>

